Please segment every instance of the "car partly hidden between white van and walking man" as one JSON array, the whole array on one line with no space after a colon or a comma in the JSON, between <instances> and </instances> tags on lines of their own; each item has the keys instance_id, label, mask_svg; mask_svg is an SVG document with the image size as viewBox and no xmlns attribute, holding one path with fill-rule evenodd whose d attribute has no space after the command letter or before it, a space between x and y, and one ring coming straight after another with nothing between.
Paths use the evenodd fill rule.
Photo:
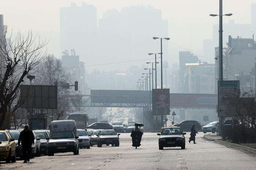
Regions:
<instances>
[{"instance_id":1,"label":"car partly hidden between white van and walking man","mask_svg":"<svg viewBox=\"0 0 256 170\"><path fill-rule=\"evenodd\" d=\"M49 133L46 130L35 130L35 134L40 137L40 154L48 155L48 143L49 140L46 138L50 137Z\"/></svg>"}]
</instances>

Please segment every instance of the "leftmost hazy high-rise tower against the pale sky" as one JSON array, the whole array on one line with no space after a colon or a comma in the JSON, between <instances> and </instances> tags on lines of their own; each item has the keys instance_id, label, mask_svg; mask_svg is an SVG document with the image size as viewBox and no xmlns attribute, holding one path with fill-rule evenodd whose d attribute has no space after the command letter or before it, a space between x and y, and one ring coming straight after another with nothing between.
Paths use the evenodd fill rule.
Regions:
<instances>
[{"instance_id":1,"label":"leftmost hazy high-rise tower against the pale sky","mask_svg":"<svg viewBox=\"0 0 256 170\"><path fill-rule=\"evenodd\" d=\"M60 8L61 51L75 48L83 61L87 56L93 58L96 37L96 7L82 2L81 7L71 3L71 7Z\"/></svg>"}]
</instances>

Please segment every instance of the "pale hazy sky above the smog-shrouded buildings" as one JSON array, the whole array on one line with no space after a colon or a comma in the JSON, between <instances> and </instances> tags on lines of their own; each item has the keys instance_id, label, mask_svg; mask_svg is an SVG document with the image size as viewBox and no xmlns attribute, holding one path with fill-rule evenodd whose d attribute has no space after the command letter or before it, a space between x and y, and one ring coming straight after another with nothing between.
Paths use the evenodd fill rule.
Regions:
<instances>
[{"instance_id":1,"label":"pale hazy sky above the smog-shrouded buildings","mask_svg":"<svg viewBox=\"0 0 256 170\"><path fill-rule=\"evenodd\" d=\"M58 33L59 7L70 7L75 2L81 6L81 0L1 0L0 14L4 14L4 23L9 31L28 29L34 32L50 32L49 51L59 55ZM202 54L203 40L212 38L212 25L218 23L218 18L209 14L218 14L218 0L85 0L87 4L97 7L98 19L102 14L116 8L131 5L150 5L162 10L162 18L168 20L169 37L171 42L185 49ZM256 0L223 0L223 14L233 13L233 16L224 18L234 19L236 23L251 23L251 4ZM152 23L154 24L154 23ZM48 37L49 37L48 36ZM172 50L172 46L169 50ZM175 50L177 50L175 48ZM180 49L182 50L182 49ZM173 61L178 61L178 51L173 56Z\"/></svg>"}]
</instances>

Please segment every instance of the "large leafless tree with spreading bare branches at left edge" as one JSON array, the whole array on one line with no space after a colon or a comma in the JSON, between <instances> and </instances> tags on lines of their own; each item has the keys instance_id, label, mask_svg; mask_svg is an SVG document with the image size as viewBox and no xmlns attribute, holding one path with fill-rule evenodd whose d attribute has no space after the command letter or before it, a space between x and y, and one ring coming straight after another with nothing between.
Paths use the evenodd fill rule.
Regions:
<instances>
[{"instance_id":1,"label":"large leafless tree with spreading bare branches at left edge","mask_svg":"<svg viewBox=\"0 0 256 170\"><path fill-rule=\"evenodd\" d=\"M16 99L19 86L27 75L37 70L45 56L42 49L47 44L48 41L41 41L39 36L33 36L32 31L25 36L17 33L13 38L11 35L8 40L6 35L0 38L0 127L6 113L15 112L22 104L22 101ZM16 104L13 106L12 101L15 99Z\"/></svg>"}]
</instances>

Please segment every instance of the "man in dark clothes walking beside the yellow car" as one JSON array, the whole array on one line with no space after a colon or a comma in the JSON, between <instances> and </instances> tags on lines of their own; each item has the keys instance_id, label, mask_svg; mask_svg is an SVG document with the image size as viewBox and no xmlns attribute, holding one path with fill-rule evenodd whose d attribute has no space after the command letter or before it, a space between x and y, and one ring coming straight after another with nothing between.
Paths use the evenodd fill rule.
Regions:
<instances>
[{"instance_id":1,"label":"man in dark clothes walking beside the yellow car","mask_svg":"<svg viewBox=\"0 0 256 170\"><path fill-rule=\"evenodd\" d=\"M20 132L18 140L18 146L20 146L20 141L22 144L24 163L29 162L31 146L34 144L34 139L34 134L29 130L29 125L25 125L24 130Z\"/></svg>"}]
</instances>

